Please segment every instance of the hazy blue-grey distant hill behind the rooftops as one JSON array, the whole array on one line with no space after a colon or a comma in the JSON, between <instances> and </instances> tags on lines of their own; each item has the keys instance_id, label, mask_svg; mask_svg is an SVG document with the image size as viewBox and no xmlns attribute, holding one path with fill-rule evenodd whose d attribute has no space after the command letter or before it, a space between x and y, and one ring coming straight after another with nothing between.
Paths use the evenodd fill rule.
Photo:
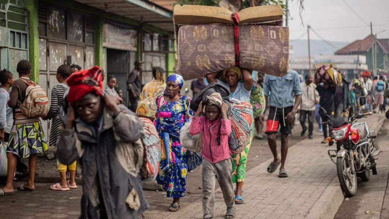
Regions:
<instances>
[{"instance_id":1,"label":"hazy blue-grey distant hill behind the rooftops","mask_svg":"<svg viewBox=\"0 0 389 219\"><path fill-rule=\"evenodd\" d=\"M293 41L293 39L292 39ZM349 42L333 42L329 41L336 49L326 44L321 40L311 40L311 55L334 55L335 51L349 44ZM295 56L308 56L308 42L307 40L297 40L290 43L293 46L293 53Z\"/></svg>"}]
</instances>

